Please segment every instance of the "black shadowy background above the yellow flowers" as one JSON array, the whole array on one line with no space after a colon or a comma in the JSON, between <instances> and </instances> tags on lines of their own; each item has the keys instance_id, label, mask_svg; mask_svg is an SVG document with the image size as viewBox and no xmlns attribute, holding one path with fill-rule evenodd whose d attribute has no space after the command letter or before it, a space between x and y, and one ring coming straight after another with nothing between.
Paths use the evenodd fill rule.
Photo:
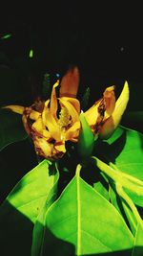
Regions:
<instances>
[{"instance_id":1,"label":"black shadowy background above the yellow flowers","mask_svg":"<svg viewBox=\"0 0 143 256\"><path fill-rule=\"evenodd\" d=\"M0 81L5 87L1 105L30 105L40 93L45 73L62 77L71 65L77 65L79 97L90 86L92 105L107 86L114 84L118 96L128 81L128 109L142 110L143 13L139 3L9 4L1 8L0 21L0 36L11 34L0 40Z\"/></svg>"}]
</instances>

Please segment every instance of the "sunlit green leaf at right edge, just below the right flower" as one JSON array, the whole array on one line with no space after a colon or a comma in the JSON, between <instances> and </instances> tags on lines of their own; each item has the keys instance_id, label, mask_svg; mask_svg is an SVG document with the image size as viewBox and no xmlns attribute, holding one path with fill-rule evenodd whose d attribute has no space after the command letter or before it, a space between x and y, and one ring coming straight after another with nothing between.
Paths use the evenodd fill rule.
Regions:
<instances>
[{"instance_id":1,"label":"sunlit green leaf at right edge, just below the right flower","mask_svg":"<svg viewBox=\"0 0 143 256\"><path fill-rule=\"evenodd\" d=\"M107 143L110 145L109 151L106 151L109 160L114 160L122 172L143 180L143 134L119 127Z\"/></svg>"}]
</instances>

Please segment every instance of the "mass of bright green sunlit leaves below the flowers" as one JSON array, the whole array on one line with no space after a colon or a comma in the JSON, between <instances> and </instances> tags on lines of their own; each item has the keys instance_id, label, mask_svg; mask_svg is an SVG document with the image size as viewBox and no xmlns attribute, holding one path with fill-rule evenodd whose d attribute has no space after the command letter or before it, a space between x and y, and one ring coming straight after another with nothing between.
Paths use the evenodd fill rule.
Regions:
<instances>
[{"instance_id":1,"label":"mass of bright green sunlit leaves below the flowers","mask_svg":"<svg viewBox=\"0 0 143 256\"><path fill-rule=\"evenodd\" d=\"M72 174L73 151L57 166L42 160L1 204L2 255L9 248L13 255L142 255L142 143L141 133L120 126L109 140L96 140L96 157Z\"/></svg>"}]
</instances>

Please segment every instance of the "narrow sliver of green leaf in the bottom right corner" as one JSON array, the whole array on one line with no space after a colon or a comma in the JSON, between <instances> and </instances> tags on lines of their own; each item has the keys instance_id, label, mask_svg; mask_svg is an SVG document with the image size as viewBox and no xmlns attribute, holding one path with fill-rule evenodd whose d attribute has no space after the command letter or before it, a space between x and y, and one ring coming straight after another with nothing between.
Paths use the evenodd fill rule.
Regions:
<instances>
[{"instance_id":1,"label":"narrow sliver of green leaf in the bottom right corner","mask_svg":"<svg viewBox=\"0 0 143 256\"><path fill-rule=\"evenodd\" d=\"M142 255L143 255L143 226L138 224L136 234L135 234L132 256L142 256Z\"/></svg>"}]
</instances>

